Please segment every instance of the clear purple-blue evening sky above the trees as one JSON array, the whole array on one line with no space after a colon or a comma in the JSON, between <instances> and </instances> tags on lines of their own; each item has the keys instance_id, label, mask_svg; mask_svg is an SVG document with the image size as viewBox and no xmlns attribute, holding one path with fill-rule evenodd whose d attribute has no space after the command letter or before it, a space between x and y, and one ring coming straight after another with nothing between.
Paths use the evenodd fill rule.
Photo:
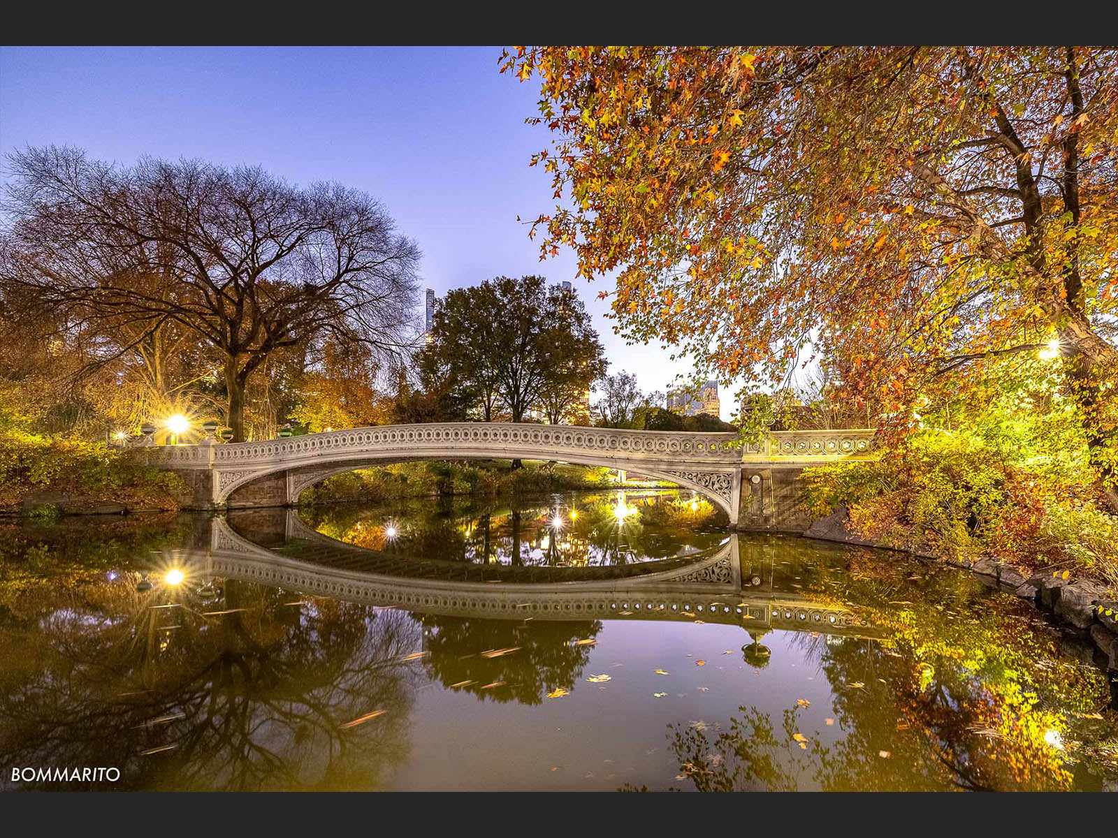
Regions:
<instances>
[{"instance_id":1,"label":"clear purple-blue evening sky above the trees","mask_svg":"<svg viewBox=\"0 0 1118 838\"><path fill-rule=\"evenodd\" d=\"M499 274L574 279L569 250L540 263L517 216L550 204L528 166L548 143L538 85L498 73L495 47L0 48L0 152L55 143L132 163L143 154L259 163L296 183L337 180L381 199L423 249L442 295ZM610 372L664 390L691 368L613 333L594 314ZM417 306L419 301L417 301ZM722 418L732 410L722 388Z\"/></svg>"}]
</instances>

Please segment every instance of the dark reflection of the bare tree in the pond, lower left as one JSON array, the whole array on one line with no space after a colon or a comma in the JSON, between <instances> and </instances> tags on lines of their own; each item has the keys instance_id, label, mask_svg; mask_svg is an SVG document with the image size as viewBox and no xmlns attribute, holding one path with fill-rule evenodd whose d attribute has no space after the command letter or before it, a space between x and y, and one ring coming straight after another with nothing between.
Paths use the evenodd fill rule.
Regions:
<instances>
[{"instance_id":1,"label":"dark reflection of the bare tree in the pond, lower left","mask_svg":"<svg viewBox=\"0 0 1118 838\"><path fill-rule=\"evenodd\" d=\"M58 580L7 616L0 760L115 765L117 789L377 788L407 753L415 623L165 569L148 592L134 571Z\"/></svg>"}]
</instances>

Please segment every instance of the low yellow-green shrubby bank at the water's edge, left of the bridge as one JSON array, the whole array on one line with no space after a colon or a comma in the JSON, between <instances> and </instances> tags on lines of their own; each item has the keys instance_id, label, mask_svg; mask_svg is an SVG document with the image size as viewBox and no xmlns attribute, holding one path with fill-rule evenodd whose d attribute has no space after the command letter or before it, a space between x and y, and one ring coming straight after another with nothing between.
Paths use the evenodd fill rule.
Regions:
<instances>
[{"instance_id":1,"label":"low yellow-green shrubby bank at the water's edge, left of the bridge","mask_svg":"<svg viewBox=\"0 0 1118 838\"><path fill-rule=\"evenodd\" d=\"M146 465L139 451L119 451L75 437L0 431L0 513L177 510L186 491L176 475Z\"/></svg>"}]
</instances>

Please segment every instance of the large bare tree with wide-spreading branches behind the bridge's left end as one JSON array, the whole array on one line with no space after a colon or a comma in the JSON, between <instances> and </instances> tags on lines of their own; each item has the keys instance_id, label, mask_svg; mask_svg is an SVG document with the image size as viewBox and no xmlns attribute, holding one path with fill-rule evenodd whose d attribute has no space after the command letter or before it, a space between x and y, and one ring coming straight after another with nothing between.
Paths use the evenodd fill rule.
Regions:
<instances>
[{"instance_id":1,"label":"large bare tree with wide-spreading branches behind the bridge's left end","mask_svg":"<svg viewBox=\"0 0 1118 838\"><path fill-rule=\"evenodd\" d=\"M275 350L329 335L391 354L415 339L419 250L364 193L200 161L123 168L54 146L10 163L0 282L74 321L120 326L121 352L168 322L198 333L221 358L234 440L246 382Z\"/></svg>"}]
</instances>

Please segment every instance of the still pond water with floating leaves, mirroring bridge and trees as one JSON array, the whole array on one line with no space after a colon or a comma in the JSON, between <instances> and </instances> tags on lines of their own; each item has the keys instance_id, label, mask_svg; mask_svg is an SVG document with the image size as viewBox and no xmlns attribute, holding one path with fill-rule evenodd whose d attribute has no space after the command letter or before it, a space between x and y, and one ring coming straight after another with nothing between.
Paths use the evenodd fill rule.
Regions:
<instances>
[{"instance_id":1,"label":"still pond water with floating leaves, mirroring bridge and trees","mask_svg":"<svg viewBox=\"0 0 1118 838\"><path fill-rule=\"evenodd\" d=\"M0 788L1115 789L1090 646L690 493L0 525ZM12 780L113 766L115 782Z\"/></svg>"}]
</instances>

